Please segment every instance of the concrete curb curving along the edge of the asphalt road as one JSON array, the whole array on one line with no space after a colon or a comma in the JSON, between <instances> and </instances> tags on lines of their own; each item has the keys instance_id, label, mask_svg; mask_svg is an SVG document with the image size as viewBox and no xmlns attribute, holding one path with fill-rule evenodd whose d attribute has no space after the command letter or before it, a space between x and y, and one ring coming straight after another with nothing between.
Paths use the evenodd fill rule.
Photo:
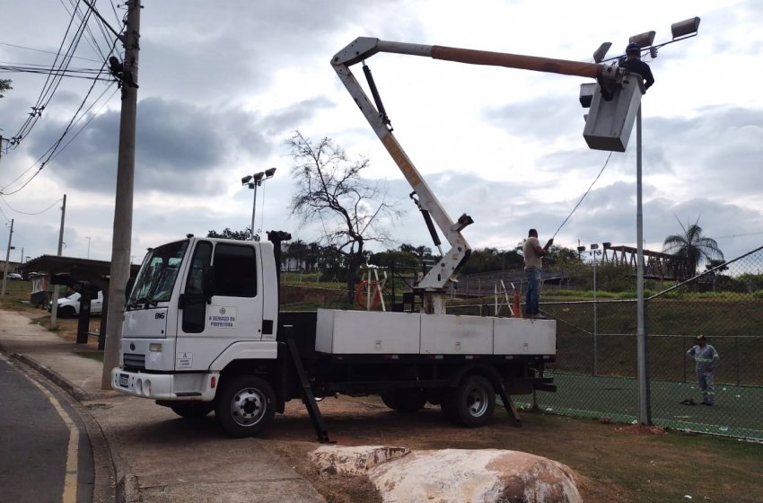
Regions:
<instances>
[{"instance_id":1,"label":"concrete curb curving along the edge of the asphalt road","mask_svg":"<svg viewBox=\"0 0 763 503\"><path fill-rule=\"evenodd\" d=\"M0 352L4 352L2 346L0 346ZM55 370L40 364L31 357L19 353L12 353L9 356L14 360L21 362L23 365L31 367L39 372L39 374L44 375L52 383L71 395L80 405L77 412L80 413L85 428L88 431L88 435L91 437L91 444L96 440L100 441L107 453L106 457L108 459L106 461L109 463L107 469L109 474L107 477L110 479L110 484L114 488L114 492L112 495L109 495L109 499L116 503L134 503L140 501L140 490L137 477L128 473L128 464L111 448L111 446L118 444L118 440L108 430L101 428L101 424L98 420L92 417L90 410L88 410L86 404L83 403L91 401L92 396L79 386L67 381L65 377L59 375ZM96 465L96 470L97 469ZM101 474L101 478L102 477L103 474ZM93 492L93 499L95 499L96 496L96 493Z\"/></svg>"}]
</instances>

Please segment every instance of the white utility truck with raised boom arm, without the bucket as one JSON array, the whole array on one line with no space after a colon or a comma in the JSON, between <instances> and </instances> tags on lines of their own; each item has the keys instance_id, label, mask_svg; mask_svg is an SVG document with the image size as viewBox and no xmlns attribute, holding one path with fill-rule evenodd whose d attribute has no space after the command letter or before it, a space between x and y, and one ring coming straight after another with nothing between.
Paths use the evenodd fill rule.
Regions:
<instances>
[{"instance_id":1,"label":"white utility truck with raised boom arm, without the bucket","mask_svg":"<svg viewBox=\"0 0 763 503\"><path fill-rule=\"evenodd\" d=\"M350 72L349 66L380 51L600 81L608 68L355 40L331 64L413 188L434 244L441 244L436 224L451 245L447 252L441 249L443 259L417 284L421 308L280 312L280 243L290 235L267 233L269 242L189 236L149 251L135 283L127 287L120 366L111 373L115 390L153 399L183 417L215 410L219 423L236 437L258 435L276 411L284 412L285 402L303 400L321 441L329 437L316 397L334 393L379 393L391 409L403 412L420 410L426 402L439 404L447 419L473 428L492 416L496 393L519 426L510 394L555 390L544 376L544 366L556 356L555 321L445 313L447 288L469 257L460 231L471 218L448 216L392 136L367 66L376 108Z\"/></svg>"}]
</instances>

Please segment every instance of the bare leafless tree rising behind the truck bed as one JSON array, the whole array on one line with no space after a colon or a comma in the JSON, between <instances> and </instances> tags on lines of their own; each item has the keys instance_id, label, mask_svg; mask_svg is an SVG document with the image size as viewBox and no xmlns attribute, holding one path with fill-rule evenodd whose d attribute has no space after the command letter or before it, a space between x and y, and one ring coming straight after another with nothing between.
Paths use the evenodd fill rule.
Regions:
<instances>
[{"instance_id":1,"label":"bare leafless tree rising behind the truck bed","mask_svg":"<svg viewBox=\"0 0 763 503\"><path fill-rule=\"evenodd\" d=\"M396 219L401 212L385 201L387 189L382 182L361 177L371 165L367 158L352 160L331 138L312 141L299 131L286 146L294 160L292 175L297 182L292 215L299 218L300 225L320 220L321 241L346 258L347 298L352 301L357 270L365 260L365 245L390 243L383 220Z\"/></svg>"}]
</instances>

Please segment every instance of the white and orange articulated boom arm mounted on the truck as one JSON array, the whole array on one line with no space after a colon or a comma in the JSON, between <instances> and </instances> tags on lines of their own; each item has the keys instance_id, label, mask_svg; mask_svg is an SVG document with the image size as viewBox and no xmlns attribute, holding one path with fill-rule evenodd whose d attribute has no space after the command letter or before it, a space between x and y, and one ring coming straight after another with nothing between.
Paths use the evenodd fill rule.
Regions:
<instances>
[{"instance_id":1,"label":"white and orange articulated boom arm mounted on the truck","mask_svg":"<svg viewBox=\"0 0 763 503\"><path fill-rule=\"evenodd\" d=\"M373 102L368 99L363 88L358 84L355 76L350 71L350 66L360 63L378 52L433 57L434 59L458 61L472 65L506 66L538 72L577 75L598 79L600 83L603 83L604 77L612 78L607 74L614 74L616 71L611 66L566 61L564 59L390 42L368 37L355 39L355 41L345 49L340 50L331 59L331 65L334 66L339 79L345 84L347 91L363 112L365 119L371 124L376 135L382 140L382 144L387 148L392 159L416 193L417 199L414 198L414 200L425 217L425 222L430 234L432 234L434 244L439 247L440 240L434 230L433 219L434 223L443 232L445 239L451 245L451 250L443 254L443 259L434 268L430 269L417 285L418 290L424 294L425 313L445 313L445 287L449 282L455 281L454 275L471 253L469 243L464 239L461 230L471 224L472 219L464 214L458 220L453 221L448 216L443 205L434 197L434 193L421 177L421 173L411 163L408 154L403 151L398 140L392 136L390 120L387 118L387 113L376 91L376 86L373 84L368 67L364 66L364 72L369 80L369 86L374 99ZM602 88L604 88L604 85L602 85ZM376 106L374 106L374 102ZM411 194L411 197L414 197L413 194Z\"/></svg>"}]
</instances>

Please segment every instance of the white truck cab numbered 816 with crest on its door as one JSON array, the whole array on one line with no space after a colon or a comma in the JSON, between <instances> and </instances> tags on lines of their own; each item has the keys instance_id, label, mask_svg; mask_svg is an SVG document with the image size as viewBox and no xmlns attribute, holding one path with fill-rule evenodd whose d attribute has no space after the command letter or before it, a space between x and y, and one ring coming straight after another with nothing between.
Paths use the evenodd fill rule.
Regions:
<instances>
[{"instance_id":1,"label":"white truck cab numbered 816 with crest on its door","mask_svg":"<svg viewBox=\"0 0 763 503\"><path fill-rule=\"evenodd\" d=\"M120 392L174 405L210 402L234 359L277 356L272 243L167 243L147 253L131 287L120 367L112 371Z\"/></svg>"}]
</instances>

